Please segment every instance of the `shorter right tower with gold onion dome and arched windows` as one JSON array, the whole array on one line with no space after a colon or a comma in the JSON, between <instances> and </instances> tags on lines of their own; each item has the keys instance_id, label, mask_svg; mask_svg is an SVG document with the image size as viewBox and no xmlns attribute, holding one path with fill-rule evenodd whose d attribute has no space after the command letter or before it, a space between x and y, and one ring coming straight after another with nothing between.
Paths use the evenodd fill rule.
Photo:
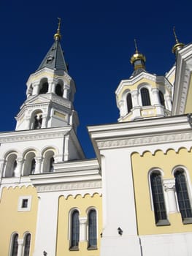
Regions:
<instances>
[{"instance_id":1,"label":"shorter right tower with gold onion dome and arched windows","mask_svg":"<svg viewBox=\"0 0 192 256\"><path fill-rule=\"evenodd\" d=\"M115 91L119 122L171 115L172 84L164 76L147 72L145 62L135 41L135 53L131 56L134 72L130 78L121 80Z\"/></svg>"}]
</instances>

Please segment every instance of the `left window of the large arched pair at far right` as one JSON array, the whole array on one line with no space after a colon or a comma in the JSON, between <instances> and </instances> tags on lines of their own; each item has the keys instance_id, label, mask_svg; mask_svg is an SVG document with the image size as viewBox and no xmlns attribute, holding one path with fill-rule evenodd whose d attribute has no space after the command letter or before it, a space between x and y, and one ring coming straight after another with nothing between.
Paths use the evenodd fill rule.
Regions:
<instances>
[{"instance_id":1,"label":"left window of the large arched pair at far right","mask_svg":"<svg viewBox=\"0 0 192 256\"><path fill-rule=\"evenodd\" d=\"M153 206L155 213L155 224L157 226L169 225L166 217L166 206L164 201L164 191L162 187L161 174L153 172L150 175L150 185L153 196Z\"/></svg>"}]
</instances>

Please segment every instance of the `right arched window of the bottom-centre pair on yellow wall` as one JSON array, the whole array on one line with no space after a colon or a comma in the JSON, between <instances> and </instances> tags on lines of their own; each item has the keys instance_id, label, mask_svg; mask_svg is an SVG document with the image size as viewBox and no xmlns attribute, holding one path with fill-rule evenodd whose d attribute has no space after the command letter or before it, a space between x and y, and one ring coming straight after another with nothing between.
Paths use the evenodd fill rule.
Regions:
<instances>
[{"instance_id":1,"label":"right arched window of the bottom-centre pair on yellow wall","mask_svg":"<svg viewBox=\"0 0 192 256\"><path fill-rule=\"evenodd\" d=\"M88 249L96 249L96 210L88 212Z\"/></svg>"}]
</instances>

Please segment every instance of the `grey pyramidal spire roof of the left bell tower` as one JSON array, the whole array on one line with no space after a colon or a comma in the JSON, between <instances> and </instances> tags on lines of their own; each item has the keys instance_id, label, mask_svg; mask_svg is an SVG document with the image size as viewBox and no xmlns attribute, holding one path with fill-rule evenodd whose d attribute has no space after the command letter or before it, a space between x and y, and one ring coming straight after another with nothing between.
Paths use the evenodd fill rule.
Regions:
<instances>
[{"instance_id":1,"label":"grey pyramidal spire roof of the left bell tower","mask_svg":"<svg viewBox=\"0 0 192 256\"><path fill-rule=\"evenodd\" d=\"M53 42L53 45L51 46L50 50L47 52L45 58L43 59L42 63L38 67L37 71L40 69L43 69L44 67L47 67L49 69L58 69L58 70L64 70L65 72L68 72L66 67L66 62L64 59L64 53L61 48L61 44L59 40L55 39L55 42Z\"/></svg>"}]
</instances>

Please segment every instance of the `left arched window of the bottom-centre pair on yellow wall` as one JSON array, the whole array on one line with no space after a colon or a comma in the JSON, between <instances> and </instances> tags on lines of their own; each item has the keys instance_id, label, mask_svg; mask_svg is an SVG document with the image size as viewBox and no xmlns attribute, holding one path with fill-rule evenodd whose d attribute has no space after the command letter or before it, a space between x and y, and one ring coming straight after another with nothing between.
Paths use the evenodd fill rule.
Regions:
<instances>
[{"instance_id":1,"label":"left arched window of the bottom-centre pair on yellow wall","mask_svg":"<svg viewBox=\"0 0 192 256\"><path fill-rule=\"evenodd\" d=\"M79 219L79 211L74 210L72 212L71 219L71 250L79 249L79 241L80 241L80 219Z\"/></svg>"}]
</instances>

